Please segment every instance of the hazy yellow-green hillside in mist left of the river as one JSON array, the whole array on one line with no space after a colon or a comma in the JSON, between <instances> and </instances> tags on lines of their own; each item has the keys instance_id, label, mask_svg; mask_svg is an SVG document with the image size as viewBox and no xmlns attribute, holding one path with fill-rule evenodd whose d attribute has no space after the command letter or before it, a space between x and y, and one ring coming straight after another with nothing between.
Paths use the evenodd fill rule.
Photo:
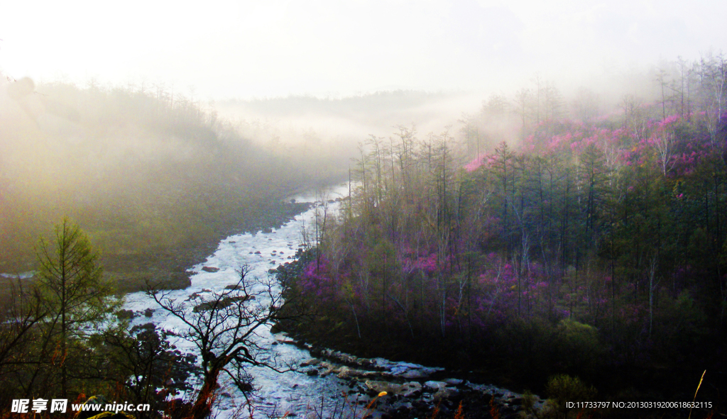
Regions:
<instances>
[{"instance_id":1,"label":"hazy yellow-green hillside in mist left of the river","mask_svg":"<svg viewBox=\"0 0 727 419\"><path fill-rule=\"evenodd\" d=\"M284 161L164 86L0 89L0 272L34 269L39 236L68 216L121 289L178 282L209 245L284 221L281 198L337 174L313 153Z\"/></svg>"}]
</instances>

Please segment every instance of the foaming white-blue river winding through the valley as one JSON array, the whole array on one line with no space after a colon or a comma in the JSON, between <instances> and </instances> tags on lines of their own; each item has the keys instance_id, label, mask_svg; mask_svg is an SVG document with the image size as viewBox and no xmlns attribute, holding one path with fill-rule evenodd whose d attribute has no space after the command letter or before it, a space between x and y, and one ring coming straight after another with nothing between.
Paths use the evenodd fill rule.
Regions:
<instances>
[{"instance_id":1,"label":"foaming white-blue river winding through the valley","mask_svg":"<svg viewBox=\"0 0 727 419\"><path fill-rule=\"evenodd\" d=\"M348 190L344 187L338 187L329 192L329 199L342 198L342 193L348 194ZM295 197L297 202L313 202L313 195L302 195ZM337 211L338 203L332 203L329 206L330 213ZM297 249L300 247L301 231L305 226L308 228L315 220L315 208L310 208L304 213L300 213L292 221L284 224L279 229L273 229L272 232L257 234L244 233L240 235L232 235L220 242L217 251L209 256L203 264L192 267L189 272L192 285L184 290L174 290L169 292L169 298L177 298L177 301L183 301L190 297L193 293L199 293L204 298L204 294L210 290L219 292L226 285L235 284L238 280L236 269L241 264L248 264L252 271L249 273L257 280L266 279L268 277L268 269L278 267L286 261L291 261ZM206 272L203 267L217 268L217 272ZM258 284L262 286L262 284ZM279 288L276 289L279 292ZM191 309L194 304L188 304ZM175 317L170 316L161 309L152 298L144 293L131 293L126 296L124 309L134 312L144 312L145 309L154 309L150 318L143 315L137 315L132 320L132 324L143 324L153 322L161 328L181 329L184 327L182 322ZM304 349L289 344L279 344L283 338L281 334L273 335L270 333L270 326L260 328L257 331L257 343L267 350L260 354L260 361L270 362L277 359L278 365L289 362L291 365L300 365L307 359L310 354ZM195 353L191 343L180 341L177 347L182 351L190 351ZM321 400L324 404L324 410L340 409L340 395L345 387L345 382L336 378L335 375L329 377L311 377L305 373L287 372L277 373L274 370L265 367L249 367L248 372L254 378L253 384L257 391L252 399L254 402L254 417L268 418L271 416L282 416L284 413L303 417L307 413L313 412L313 406L316 410L321 409ZM223 379L221 378L221 381ZM222 384L222 396L220 404L217 407L219 417L230 417L239 413L239 407L244 404L244 396L231 383ZM248 412L244 411L245 415Z\"/></svg>"}]
</instances>

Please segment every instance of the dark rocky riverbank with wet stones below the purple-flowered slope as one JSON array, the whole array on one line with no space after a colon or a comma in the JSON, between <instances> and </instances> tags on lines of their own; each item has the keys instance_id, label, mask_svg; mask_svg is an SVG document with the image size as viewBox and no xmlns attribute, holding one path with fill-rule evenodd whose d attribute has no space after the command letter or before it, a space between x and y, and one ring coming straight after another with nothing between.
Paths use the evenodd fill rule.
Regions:
<instances>
[{"instance_id":1,"label":"dark rocky riverbank with wet stones below the purple-flowered slope","mask_svg":"<svg viewBox=\"0 0 727 419\"><path fill-rule=\"evenodd\" d=\"M300 373L310 377L335 376L348 386L345 399L361 412L370 406L374 418L535 418L545 401L488 384L452 378L441 367L424 367L382 358L361 358L331 349L319 349L276 334L277 344L299 346L312 358Z\"/></svg>"}]
</instances>

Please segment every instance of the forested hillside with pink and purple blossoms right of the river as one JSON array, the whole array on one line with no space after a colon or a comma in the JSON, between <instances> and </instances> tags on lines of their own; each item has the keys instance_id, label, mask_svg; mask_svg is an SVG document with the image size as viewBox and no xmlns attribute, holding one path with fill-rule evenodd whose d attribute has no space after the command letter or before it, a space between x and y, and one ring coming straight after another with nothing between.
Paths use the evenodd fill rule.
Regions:
<instances>
[{"instance_id":1,"label":"forested hillside with pink and purple blossoms right of the river","mask_svg":"<svg viewBox=\"0 0 727 419\"><path fill-rule=\"evenodd\" d=\"M669 65L613 109L538 81L461 136L370 137L284 277L316 315L284 327L533 391L579 375L604 399L691 400L707 370L724 400L727 63Z\"/></svg>"}]
</instances>

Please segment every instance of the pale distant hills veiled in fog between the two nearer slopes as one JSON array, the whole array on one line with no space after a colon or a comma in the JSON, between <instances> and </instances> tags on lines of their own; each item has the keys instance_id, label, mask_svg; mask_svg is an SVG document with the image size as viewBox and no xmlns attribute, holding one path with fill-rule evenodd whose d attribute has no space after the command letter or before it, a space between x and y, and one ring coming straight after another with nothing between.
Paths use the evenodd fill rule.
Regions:
<instances>
[{"instance_id":1,"label":"pale distant hills veiled in fog between the two nearer slopes","mask_svg":"<svg viewBox=\"0 0 727 419\"><path fill-rule=\"evenodd\" d=\"M387 136L401 123L438 130L478 100L462 92L398 90L353 97L229 99L214 105L263 147L289 155L315 148L320 158L345 167L367 134Z\"/></svg>"}]
</instances>

